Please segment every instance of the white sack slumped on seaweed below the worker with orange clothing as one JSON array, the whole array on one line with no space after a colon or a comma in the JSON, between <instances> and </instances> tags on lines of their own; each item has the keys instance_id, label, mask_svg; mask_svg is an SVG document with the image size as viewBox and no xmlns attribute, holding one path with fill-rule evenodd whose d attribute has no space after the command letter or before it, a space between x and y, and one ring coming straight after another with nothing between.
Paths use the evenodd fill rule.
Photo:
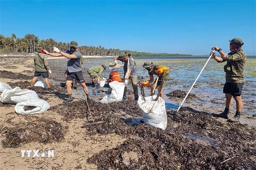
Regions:
<instances>
[{"instance_id":1,"label":"white sack slumped on seaweed below the worker with orange clothing","mask_svg":"<svg viewBox=\"0 0 256 170\"><path fill-rule=\"evenodd\" d=\"M124 95L124 83L118 81L112 81L109 83L112 89L111 94L103 97L100 101L101 103L111 103L114 101L122 101Z\"/></svg>"}]
</instances>

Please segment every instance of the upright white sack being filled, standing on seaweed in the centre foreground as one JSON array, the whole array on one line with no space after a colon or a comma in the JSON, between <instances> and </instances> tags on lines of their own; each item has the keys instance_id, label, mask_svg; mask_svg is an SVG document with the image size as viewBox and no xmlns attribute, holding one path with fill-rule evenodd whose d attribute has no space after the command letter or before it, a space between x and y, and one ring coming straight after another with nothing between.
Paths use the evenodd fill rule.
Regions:
<instances>
[{"instance_id":1,"label":"upright white sack being filled, standing on seaweed in the centre foreground","mask_svg":"<svg viewBox=\"0 0 256 170\"><path fill-rule=\"evenodd\" d=\"M155 99L157 96L154 95ZM152 101L152 97L145 97L146 101L140 95L138 99L138 105L143 111L143 121L155 126L156 128L166 129L167 115L165 110L165 101L162 97L159 97L157 101Z\"/></svg>"}]
</instances>

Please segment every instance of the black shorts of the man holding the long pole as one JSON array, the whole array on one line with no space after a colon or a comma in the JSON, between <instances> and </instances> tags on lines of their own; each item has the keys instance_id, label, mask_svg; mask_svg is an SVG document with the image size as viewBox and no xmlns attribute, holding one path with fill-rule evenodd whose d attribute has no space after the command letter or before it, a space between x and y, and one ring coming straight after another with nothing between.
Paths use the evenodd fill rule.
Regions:
<instances>
[{"instance_id":1,"label":"black shorts of the man holding the long pole","mask_svg":"<svg viewBox=\"0 0 256 170\"><path fill-rule=\"evenodd\" d=\"M223 93L231 94L232 96L241 96L244 83L228 83L226 82L223 87Z\"/></svg>"}]
</instances>

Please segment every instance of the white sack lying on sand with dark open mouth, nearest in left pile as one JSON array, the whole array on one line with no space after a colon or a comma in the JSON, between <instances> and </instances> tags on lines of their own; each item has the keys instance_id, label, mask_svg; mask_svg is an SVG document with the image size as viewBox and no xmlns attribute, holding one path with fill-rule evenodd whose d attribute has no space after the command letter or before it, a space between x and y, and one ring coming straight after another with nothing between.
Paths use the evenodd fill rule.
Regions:
<instances>
[{"instance_id":1,"label":"white sack lying on sand with dark open mouth, nearest in left pile","mask_svg":"<svg viewBox=\"0 0 256 170\"><path fill-rule=\"evenodd\" d=\"M15 106L15 112L22 115L33 115L37 113L44 113L50 108L47 101L42 99L30 99L18 103Z\"/></svg>"}]
</instances>

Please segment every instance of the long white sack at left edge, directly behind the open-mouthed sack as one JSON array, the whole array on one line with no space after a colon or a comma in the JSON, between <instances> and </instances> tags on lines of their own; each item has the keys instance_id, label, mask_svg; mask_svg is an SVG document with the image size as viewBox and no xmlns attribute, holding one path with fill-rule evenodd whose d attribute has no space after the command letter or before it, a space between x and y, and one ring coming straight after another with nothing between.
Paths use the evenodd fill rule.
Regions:
<instances>
[{"instance_id":1,"label":"long white sack at left edge, directly behind the open-mouthed sack","mask_svg":"<svg viewBox=\"0 0 256 170\"><path fill-rule=\"evenodd\" d=\"M0 96L0 101L2 103L10 104L17 104L29 99L38 99L36 92L28 89L21 90L19 87L15 87L11 90L5 89Z\"/></svg>"}]
</instances>

